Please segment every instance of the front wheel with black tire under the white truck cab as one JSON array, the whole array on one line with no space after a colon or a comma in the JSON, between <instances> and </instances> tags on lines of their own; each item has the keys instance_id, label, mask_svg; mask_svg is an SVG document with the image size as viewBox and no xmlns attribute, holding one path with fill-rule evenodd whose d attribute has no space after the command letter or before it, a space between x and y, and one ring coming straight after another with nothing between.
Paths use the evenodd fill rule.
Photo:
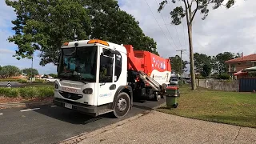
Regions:
<instances>
[{"instance_id":1,"label":"front wheel with black tire under the white truck cab","mask_svg":"<svg viewBox=\"0 0 256 144\"><path fill-rule=\"evenodd\" d=\"M120 105L119 105L120 104ZM118 98L115 99L114 102L114 117L122 118L126 116L126 114L130 110L130 97L126 93L118 94Z\"/></svg>"}]
</instances>

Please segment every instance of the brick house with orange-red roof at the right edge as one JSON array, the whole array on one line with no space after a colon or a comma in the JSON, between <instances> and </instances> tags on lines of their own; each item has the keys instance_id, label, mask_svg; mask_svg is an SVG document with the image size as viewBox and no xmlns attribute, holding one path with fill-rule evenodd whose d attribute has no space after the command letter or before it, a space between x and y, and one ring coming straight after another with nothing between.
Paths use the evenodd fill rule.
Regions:
<instances>
[{"instance_id":1,"label":"brick house with orange-red roof at the right edge","mask_svg":"<svg viewBox=\"0 0 256 144\"><path fill-rule=\"evenodd\" d=\"M226 61L226 64L229 65L229 74L236 78L246 78L248 74L244 72L244 69L256 66L256 54L230 59Z\"/></svg>"}]
</instances>

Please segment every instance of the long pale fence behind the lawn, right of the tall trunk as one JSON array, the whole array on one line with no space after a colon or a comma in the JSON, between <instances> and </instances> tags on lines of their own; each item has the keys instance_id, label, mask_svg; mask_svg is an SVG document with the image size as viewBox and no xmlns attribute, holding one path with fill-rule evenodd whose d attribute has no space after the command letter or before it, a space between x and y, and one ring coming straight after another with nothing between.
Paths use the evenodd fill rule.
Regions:
<instances>
[{"instance_id":1,"label":"long pale fence behind the lawn, right of the tall trunk","mask_svg":"<svg viewBox=\"0 0 256 144\"><path fill-rule=\"evenodd\" d=\"M223 91L239 91L239 81L232 80L215 80L215 79L197 79L197 86L205 87L212 90L223 90Z\"/></svg>"}]
</instances>

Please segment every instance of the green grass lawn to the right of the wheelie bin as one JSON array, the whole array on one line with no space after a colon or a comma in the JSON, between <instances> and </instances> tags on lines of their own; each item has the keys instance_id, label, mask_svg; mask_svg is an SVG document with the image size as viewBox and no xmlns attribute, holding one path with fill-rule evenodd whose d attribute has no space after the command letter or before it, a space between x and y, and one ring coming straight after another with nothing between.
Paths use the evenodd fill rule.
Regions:
<instances>
[{"instance_id":1,"label":"green grass lawn to the right of the wheelie bin","mask_svg":"<svg viewBox=\"0 0 256 144\"><path fill-rule=\"evenodd\" d=\"M237 126L256 128L256 94L224 92L199 88L190 90L181 86L178 108L158 111L187 118L197 118L211 122L222 122Z\"/></svg>"}]
</instances>

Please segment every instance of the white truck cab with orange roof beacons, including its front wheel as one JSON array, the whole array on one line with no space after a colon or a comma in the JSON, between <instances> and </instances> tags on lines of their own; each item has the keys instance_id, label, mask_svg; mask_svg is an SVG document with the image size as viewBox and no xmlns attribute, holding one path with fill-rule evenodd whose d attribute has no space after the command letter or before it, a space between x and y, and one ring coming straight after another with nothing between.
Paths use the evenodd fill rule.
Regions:
<instances>
[{"instance_id":1,"label":"white truck cab with orange roof beacons, including its front wheel","mask_svg":"<svg viewBox=\"0 0 256 144\"><path fill-rule=\"evenodd\" d=\"M101 40L66 42L61 48L54 104L98 116L121 118L133 103L127 85L127 51Z\"/></svg>"}]
</instances>

